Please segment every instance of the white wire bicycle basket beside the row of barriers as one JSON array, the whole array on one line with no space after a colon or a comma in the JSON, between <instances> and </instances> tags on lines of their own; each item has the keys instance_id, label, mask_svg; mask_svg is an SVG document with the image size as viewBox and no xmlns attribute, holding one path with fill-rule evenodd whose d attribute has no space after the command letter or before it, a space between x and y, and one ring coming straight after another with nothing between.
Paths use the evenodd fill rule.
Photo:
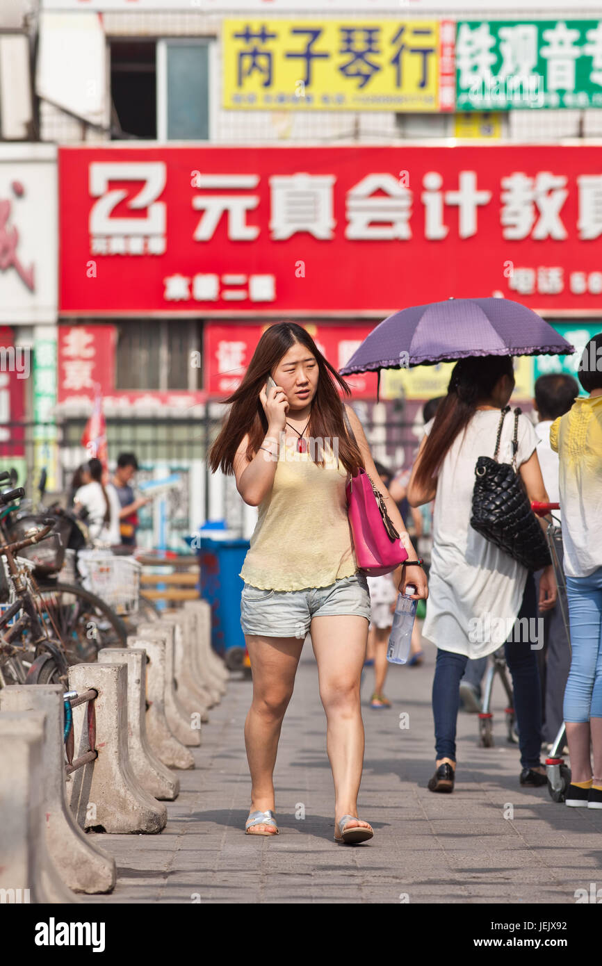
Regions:
<instances>
[{"instance_id":1,"label":"white wire bicycle basket beside the row of barriers","mask_svg":"<svg viewBox=\"0 0 602 966\"><path fill-rule=\"evenodd\" d=\"M98 594L117 613L138 610L141 564L130 556L113 556L105 550L81 550L77 567L83 586Z\"/></svg>"}]
</instances>

